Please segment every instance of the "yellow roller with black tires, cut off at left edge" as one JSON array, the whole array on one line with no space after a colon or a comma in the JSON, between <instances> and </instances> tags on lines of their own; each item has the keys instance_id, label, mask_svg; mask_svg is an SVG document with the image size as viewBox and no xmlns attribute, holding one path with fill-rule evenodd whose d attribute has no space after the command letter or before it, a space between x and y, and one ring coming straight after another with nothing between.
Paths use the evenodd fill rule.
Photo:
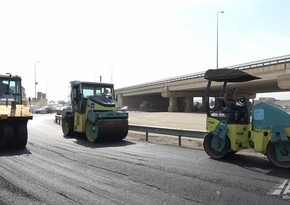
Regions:
<instances>
[{"instance_id":1,"label":"yellow roller with black tires, cut off at left edge","mask_svg":"<svg viewBox=\"0 0 290 205\"><path fill-rule=\"evenodd\" d=\"M25 148L30 104L22 97L21 77L0 75L0 148Z\"/></svg>"}]
</instances>

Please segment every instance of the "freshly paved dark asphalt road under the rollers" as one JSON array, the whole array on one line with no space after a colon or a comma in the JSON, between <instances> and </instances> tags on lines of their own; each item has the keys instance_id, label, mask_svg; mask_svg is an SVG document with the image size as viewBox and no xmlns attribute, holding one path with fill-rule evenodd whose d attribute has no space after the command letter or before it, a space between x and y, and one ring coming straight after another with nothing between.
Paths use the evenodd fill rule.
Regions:
<instances>
[{"instance_id":1,"label":"freshly paved dark asphalt road under the rollers","mask_svg":"<svg viewBox=\"0 0 290 205\"><path fill-rule=\"evenodd\" d=\"M64 138L53 119L53 114L34 115L27 149L0 151L1 205L290 202L289 170L263 156L216 161L202 149L132 138L89 143Z\"/></svg>"}]
</instances>

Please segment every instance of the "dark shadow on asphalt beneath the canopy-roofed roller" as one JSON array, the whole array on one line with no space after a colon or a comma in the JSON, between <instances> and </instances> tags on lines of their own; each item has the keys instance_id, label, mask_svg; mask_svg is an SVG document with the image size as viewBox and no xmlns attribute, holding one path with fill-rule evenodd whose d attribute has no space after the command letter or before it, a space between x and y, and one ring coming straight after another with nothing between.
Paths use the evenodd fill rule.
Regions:
<instances>
[{"instance_id":1,"label":"dark shadow on asphalt beneath the canopy-roofed roller","mask_svg":"<svg viewBox=\"0 0 290 205\"><path fill-rule=\"evenodd\" d=\"M259 172L262 174L289 178L290 169L276 167L271 164L267 157L259 157L246 154L230 154L220 161L238 165L244 169Z\"/></svg>"}]
</instances>

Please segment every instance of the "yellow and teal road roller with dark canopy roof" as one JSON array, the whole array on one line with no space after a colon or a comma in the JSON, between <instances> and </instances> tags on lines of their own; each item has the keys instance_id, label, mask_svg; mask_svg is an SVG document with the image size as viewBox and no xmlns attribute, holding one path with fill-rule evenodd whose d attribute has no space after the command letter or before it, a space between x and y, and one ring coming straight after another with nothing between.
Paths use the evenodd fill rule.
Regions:
<instances>
[{"instance_id":1,"label":"yellow and teal road roller with dark canopy roof","mask_svg":"<svg viewBox=\"0 0 290 205\"><path fill-rule=\"evenodd\" d=\"M224 93L227 88L258 80L259 77L241 70L211 69L206 71L208 80L206 97L206 128L204 150L213 159L240 151L253 149L267 155L275 166L290 168L290 115L286 109L268 102L255 103L239 99L242 114L227 108Z\"/></svg>"}]
</instances>

